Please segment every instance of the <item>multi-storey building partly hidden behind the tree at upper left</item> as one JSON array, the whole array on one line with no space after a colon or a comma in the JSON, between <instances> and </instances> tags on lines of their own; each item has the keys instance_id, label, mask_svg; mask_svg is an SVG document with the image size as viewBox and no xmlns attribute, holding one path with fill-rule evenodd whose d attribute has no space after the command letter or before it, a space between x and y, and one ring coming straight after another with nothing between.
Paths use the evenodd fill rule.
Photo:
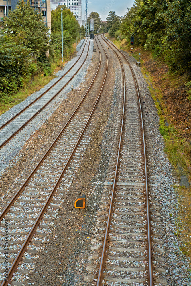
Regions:
<instances>
[{"instance_id":1,"label":"multi-storey building partly hidden behind the tree at upper left","mask_svg":"<svg viewBox=\"0 0 191 286\"><path fill-rule=\"evenodd\" d=\"M24 0L27 2L27 0ZM51 14L50 14L50 0L30 0L31 7L42 13L44 24L49 27L51 33ZM9 16L9 10L14 10L17 6L17 0L0 0L0 28L3 18Z\"/></svg>"}]
</instances>

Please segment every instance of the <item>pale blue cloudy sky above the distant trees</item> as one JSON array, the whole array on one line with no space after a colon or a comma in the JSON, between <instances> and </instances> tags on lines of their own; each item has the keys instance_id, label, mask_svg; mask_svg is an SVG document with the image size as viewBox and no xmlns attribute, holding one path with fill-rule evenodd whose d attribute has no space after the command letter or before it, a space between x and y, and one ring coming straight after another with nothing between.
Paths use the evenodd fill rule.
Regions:
<instances>
[{"instance_id":1,"label":"pale blue cloudy sky above the distant trees","mask_svg":"<svg viewBox=\"0 0 191 286\"><path fill-rule=\"evenodd\" d=\"M84 3L82 0L82 19L84 19ZM115 11L117 15L124 16L127 7L133 6L133 0L88 0L88 13L97 12L102 21L106 21L109 11Z\"/></svg>"}]
</instances>

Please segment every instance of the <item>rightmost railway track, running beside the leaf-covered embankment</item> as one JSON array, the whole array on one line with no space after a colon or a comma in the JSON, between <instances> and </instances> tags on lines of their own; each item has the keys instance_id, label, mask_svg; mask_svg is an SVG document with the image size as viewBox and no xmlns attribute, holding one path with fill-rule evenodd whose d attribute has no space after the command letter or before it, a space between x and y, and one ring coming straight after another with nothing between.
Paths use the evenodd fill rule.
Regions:
<instances>
[{"instance_id":1,"label":"rightmost railway track, running beside the leaf-covered embankment","mask_svg":"<svg viewBox=\"0 0 191 286\"><path fill-rule=\"evenodd\" d=\"M101 37L118 57L123 94L87 266L91 275L84 280L96 280L96 286L166 285L163 228L147 160L138 85L125 55Z\"/></svg>"}]
</instances>

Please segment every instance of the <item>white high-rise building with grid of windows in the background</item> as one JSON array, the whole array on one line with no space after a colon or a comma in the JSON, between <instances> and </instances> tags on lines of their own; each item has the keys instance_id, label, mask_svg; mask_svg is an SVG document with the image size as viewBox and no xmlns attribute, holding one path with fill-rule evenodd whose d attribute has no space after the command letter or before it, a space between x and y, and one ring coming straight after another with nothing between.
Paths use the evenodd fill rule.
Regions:
<instances>
[{"instance_id":1,"label":"white high-rise building with grid of windows in the background","mask_svg":"<svg viewBox=\"0 0 191 286\"><path fill-rule=\"evenodd\" d=\"M82 25L82 0L50 0L51 10L55 10L59 5L66 5L73 12L78 23Z\"/></svg>"}]
</instances>

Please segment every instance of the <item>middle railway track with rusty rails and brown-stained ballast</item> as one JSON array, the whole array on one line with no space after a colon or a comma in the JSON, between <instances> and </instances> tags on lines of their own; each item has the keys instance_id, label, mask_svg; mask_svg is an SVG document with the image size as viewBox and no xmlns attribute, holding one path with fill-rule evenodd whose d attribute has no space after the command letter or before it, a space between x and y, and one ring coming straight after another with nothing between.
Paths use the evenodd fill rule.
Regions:
<instances>
[{"instance_id":1,"label":"middle railway track with rusty rails and brown-stained ballast","mask_svg":"<svg viewBox=\"0 0 191 286\"><path fill-rule=\"evenodd\" d=\"M88 130L88 124L101 96L108 71L105 49L97 37L95 41L100 54L99 66L82 101L19 190L16 193L14 191L9 193L8 203L0 206L3 207L0 214L1 253L5 252L4 230L8 225L8 262L11 264L7 269L7 276L2 277L1 286L8 283L14 285L11 277L34 234L36 237L46 236L46 230L50 227L48 222L51 222L51 217L54 217L54 210L59 208L65 192L58 190L58 186L63 176L71 176L78 164L78 158L86 147L85 139L82 139ZM73 160L72 164L71 160ZM38 246L39 241L33 242L33 245ZM35 253L36 250L30 251ZM0 263L4 271L5 253L2 256ZM29 262L28 259L23 261ZM21 271L21 273L25 272Z\"/></svg>"}]
</instances>

